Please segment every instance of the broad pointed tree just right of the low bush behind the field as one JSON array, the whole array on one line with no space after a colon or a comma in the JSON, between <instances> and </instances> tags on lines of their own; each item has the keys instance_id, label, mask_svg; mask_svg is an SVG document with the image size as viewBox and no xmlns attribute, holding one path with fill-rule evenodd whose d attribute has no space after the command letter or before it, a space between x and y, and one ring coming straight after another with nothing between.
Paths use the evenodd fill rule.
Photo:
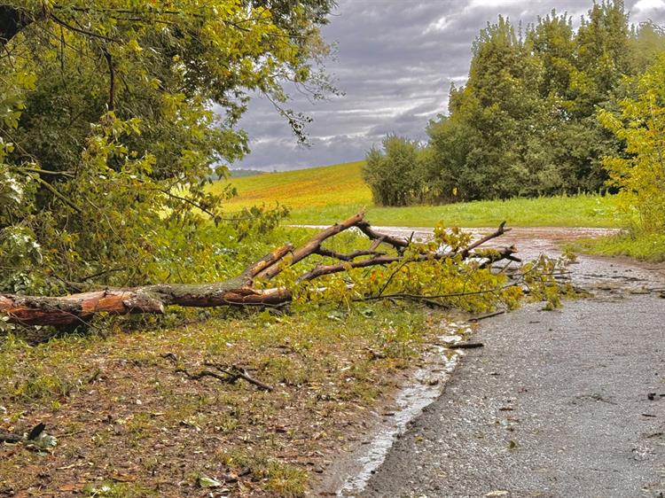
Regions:
<instances>
[{"instance_id":1,"label":"broad pointed tree just right of the low bush behind the field","mask_svg":"<svg viewBox=\"0 0 665 498\"><path fill-rule=\"evenodd\" d=\"M465 87L450 92L450 117L428 128L440 168L434 178L454 183L445 191L459 200L536 193L534 159L547 115L538 94L541 72L530 41L508 19L481 31Z\"/></svg>"}]
</instances>

